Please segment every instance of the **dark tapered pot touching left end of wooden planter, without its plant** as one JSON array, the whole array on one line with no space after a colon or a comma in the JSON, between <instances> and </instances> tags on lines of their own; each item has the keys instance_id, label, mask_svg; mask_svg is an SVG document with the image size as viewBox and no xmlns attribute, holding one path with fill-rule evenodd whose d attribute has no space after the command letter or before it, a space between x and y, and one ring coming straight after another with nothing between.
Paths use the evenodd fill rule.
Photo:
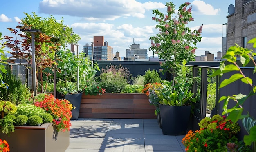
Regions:
<instances>
[{"instance_id":1,"label":"dark tapered pot touching left end of wooden planter, without its plant","mask_svg":"<svg viewBox=\"0 0 256 152\"><path fill-rule=\"evenodd\" d=\"M75 94L68 94L65 95L65 99L70 101L70 103L73 105L73 107L76 107L72 109L72 120L78 119L79 116L79 110L80 110L80 104L82 99L82 93L75 93Z\"/></svg>"}]
</instances>

